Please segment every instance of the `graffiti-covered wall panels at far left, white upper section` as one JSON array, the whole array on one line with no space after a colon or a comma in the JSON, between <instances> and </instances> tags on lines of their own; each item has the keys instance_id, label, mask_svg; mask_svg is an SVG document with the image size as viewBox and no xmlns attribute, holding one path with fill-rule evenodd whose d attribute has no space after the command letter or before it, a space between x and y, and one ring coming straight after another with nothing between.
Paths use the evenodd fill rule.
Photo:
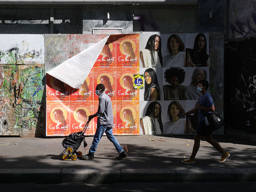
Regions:
<instances>
[{"instance_id":1,"label":"graffiti-covered wall panels at far left, white upper section","mask_svg":"<svg viewBox=\"0 0 256 192\"><path fill-rule=\"evenodd\" d=\"M42 136L44 35L1 34L0 40L0 135Z\"/></svg>"}]
</instances>

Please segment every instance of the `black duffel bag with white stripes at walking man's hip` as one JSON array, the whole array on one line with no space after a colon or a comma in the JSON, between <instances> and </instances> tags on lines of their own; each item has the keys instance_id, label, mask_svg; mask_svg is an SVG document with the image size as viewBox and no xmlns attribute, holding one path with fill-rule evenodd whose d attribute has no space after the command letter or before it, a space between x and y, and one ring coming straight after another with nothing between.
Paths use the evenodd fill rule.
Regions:
<instances>
[{"instance_id":1,"label":"black duffel bag with white stripes at walking man's hip","mask_svg":"<svg viewBox=\"0 0 256 192\"><path fill-rule=\"evenodd\" d=\"M207 130L211 132L220 129L224 125L224 120L222 116L217 112L211 112L206 114L204 117L204 123Z\"/></svg>"}]
</instances>

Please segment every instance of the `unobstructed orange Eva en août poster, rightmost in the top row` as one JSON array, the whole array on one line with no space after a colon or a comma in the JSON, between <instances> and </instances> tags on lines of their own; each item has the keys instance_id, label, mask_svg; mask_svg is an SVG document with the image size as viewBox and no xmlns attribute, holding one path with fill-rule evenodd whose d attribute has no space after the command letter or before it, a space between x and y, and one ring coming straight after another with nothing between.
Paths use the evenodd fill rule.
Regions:
<instances>
[{"instance_id":1,"label":"unobstructed orange Eva en ao\u00fbt poster, rightmost in the top row","mask_svg":"<svg viewBox=\"0 0 256 192\"><path fill-rule=\"evenodd\" d=\"M139 67L139 34L116 36L116 67Z\"/></svg>"}]
</instances>

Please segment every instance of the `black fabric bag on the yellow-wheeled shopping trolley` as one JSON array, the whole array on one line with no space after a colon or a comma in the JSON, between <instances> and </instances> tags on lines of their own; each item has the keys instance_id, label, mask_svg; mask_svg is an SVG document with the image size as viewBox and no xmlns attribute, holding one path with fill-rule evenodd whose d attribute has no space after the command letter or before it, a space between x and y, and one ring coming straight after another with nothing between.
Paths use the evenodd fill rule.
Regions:
<instances>
[{"instance_id":1,"label":"black fabric bag on the yellow-wheeled shopping trolley","mask_svg":"<svg viewBox=\"0 0 256 192\"><path fill-rule=\"evenodd\" d=\"M68 147L72 147L73 150L76 151L80 147L83 140L84 140L84 148L85 148L87 146L87 143L84 139L84 133L82 131L76 132L76 133L71 133L68 135L67 138L65 138L62 141L62 146L66 149Z\"/></svg>"}]
</instances>

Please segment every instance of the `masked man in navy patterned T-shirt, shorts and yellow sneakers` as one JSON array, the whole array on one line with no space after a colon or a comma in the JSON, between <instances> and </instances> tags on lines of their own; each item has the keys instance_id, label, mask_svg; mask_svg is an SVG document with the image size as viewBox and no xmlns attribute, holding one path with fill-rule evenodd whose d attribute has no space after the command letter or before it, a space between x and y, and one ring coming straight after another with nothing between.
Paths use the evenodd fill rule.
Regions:
<instances>
[{"instance_id":1,"label":"masked man in navy patterned T-shirt, shorts and yellow sneakers","mask_svg":"<svg viewBox=\"0 0 256 192\"><path fill-rule=\"evenodd\" d=\"M196 130L196 135L194 138L195 141L194 141L193 151L189 158L183 159L181 161L184 164L195 163L196 153L200 147L200 140L203 136L205 137L205 140L208 143L210 143L214 148L220 151L221 153L221 158L219 160L220 163L224 163L226 159L230 156L230 154L224 151L224 149L220 146L220 144L216 140L212 139L212 132L207 130L207 128L204 126L204 116L207 113L211 113L215 111L212 97L209 93L207 93L208 87L209 87L208 81L200 80L197 85L197 91L201 92L201 96L198 99L198 104L196 105L196 108L181 114L181 115L189 115L198 111L198 119L199 119L199 125Z\"/></svg>"}]
</instances>

